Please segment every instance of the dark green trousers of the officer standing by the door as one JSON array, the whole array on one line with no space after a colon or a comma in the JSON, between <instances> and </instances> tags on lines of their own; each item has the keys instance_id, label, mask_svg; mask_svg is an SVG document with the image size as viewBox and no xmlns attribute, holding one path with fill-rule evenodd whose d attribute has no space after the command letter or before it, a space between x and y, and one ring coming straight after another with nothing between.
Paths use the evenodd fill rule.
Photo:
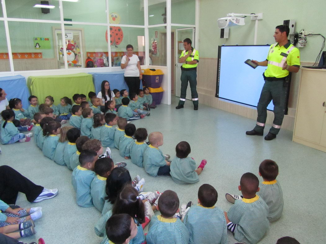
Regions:
<instances>
[{"instance_id":1,"label":"dark green trousers of the officer standing by the door","mask_svg":"<svg viewBox=\"0 0 326 244\"><path fill-rule=\"evenodd\" d=\"M185 104L185 96L187 93L188 81L191 89L191 100L194 105L198 105L198 93L197 87L197 71L193 70L182 70L181 71L181 94L179 104Z\"/></svg>"}]
</instances>

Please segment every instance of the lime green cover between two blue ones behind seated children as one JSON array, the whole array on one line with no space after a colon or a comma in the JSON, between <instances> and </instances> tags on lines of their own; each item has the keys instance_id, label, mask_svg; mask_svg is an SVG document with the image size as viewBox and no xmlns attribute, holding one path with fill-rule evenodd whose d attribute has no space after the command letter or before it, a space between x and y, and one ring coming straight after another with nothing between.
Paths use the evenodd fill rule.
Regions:
<instances>
[{"instance_id":1,"label":"lime green cover between two blue ones behind seated children","mask_svg":"<svg viewBox=\"0 0 326 244\"><path fill-rule=\"evenodd\" d=\"M92 75L79 73L73 75L29 76L27 87L30 94L37 96L38 104L44 103L45 97L52 96L54 105L60 103L62 97L71 99L75 93L85 94L95 91Z\"/></svg>"}]
</instances>

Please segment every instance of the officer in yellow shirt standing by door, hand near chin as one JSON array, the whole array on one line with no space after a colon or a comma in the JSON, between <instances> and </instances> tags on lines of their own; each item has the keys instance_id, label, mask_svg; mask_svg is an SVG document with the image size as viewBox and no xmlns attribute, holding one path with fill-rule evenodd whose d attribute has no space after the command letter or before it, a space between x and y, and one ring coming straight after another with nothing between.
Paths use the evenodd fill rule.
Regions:
<instances>
[{"instance_id":1,"label":"officer in yellow shirt standing by door, hand near chin","mask_svg":"<svg viewBox=\"0 0 326 244\"><path fill-rule=\"evenodd\" d=\"M182 51L179 63L183 63L181 67L181 94L180 101L176 109L184 107L185 96L187 92L188 81L191 89L191 100L194 104L194 110L198 110L198 93L197 87L197 63L199 62L198 50L191 47L191 40L184 40L185 50Z\"/></svg>"}]
</instances>

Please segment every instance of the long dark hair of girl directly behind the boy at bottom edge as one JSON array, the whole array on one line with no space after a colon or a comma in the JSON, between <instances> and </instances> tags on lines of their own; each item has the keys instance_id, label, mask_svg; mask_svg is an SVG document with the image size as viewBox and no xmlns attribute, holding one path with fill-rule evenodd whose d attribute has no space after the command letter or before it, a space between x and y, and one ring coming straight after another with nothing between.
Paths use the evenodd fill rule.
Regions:
<instances>
[{"instance_id":1,"label":"long dark hair of girl directly behind the boy at bottom edge","mask_svg":"<svg viewBox=\"0 0 326 244\"><path fill-rule=\"evenodd\" d=\"M137 219L140 224L144 223L144 204L141 198L138 197L138 194L137 190L131 184L125 185L114 203L112 215L127 213Z\"/></svg>"}]
</instances>

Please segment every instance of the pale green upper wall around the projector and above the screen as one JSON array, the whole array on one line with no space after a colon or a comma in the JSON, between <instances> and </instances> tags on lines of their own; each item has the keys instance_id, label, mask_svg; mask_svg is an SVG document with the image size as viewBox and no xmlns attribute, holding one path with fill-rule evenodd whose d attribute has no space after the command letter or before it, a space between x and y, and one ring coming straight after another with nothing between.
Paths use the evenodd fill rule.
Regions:
<instances>
[{"instance_id":1,"label":"pale green upper wall around the projector and above the screen","mask_svg":"<svg viewBox=\"0 0 326 244\"><path fill-rule=\"evenodd\" d=\"M305 31L313 31L314 34L326 36L325 10L325 0L297 0L293 2L281 0L200 1L200 56L217 58L217 48L222 44L253 45L255 21L251 21L250 17L245 18L244 26L230 27L229 39L220 39L217 19L226 17L228 13L263 13L263 20L259 20L258 23L257 44L264 45L274 43L275 26L283 24L283 20L289 19L296 21L295 31L304 29ZM323 38L308 36L307 40L306 47L300 48L301 61L314 62L321 48Z\"/></svg>"}]
</instances>

